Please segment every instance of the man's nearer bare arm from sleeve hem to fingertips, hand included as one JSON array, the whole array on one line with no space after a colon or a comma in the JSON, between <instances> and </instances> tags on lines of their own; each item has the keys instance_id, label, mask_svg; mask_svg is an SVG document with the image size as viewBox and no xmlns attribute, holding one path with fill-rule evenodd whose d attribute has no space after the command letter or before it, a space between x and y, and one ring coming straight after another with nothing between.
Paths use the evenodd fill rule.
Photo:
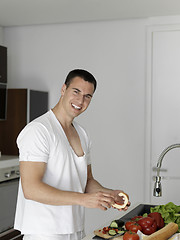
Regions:
<instances>
[{"instance_id":1,"label":"man's nearer bare arm from sleeve hem to fingertips, hand included","mask_svg":"<svg viewBox=\"0 0 180 240\"><path fill-rule=\"evenodd\" d=\"M79 193L54 188L43 182L45 170L46 163L43 162L20 162L22 189L26 199L49 205L82 205L102 210L106 210L114 202L109 193Z\"/></svg>"}]
</instances>

